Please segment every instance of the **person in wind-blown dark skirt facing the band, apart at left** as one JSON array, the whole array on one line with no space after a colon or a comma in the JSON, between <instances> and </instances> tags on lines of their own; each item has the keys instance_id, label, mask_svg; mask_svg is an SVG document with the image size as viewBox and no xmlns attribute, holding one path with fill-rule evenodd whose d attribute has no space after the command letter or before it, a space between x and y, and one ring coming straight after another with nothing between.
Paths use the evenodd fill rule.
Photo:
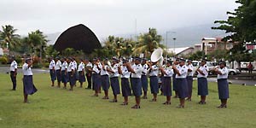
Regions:
<instances>
[{"instance_id":1,"label":"person in wind-blown dark skirt facing the band, apart at left","mask_svg":"<svg viewBox=\"0 0 256 128\"><path fill-rule=\"evenodd\" d=\"M38 91L35 85L33 84L33 78L32 78L33 73L31 70L32 64L33 64L33 61L31 61L30 58L27 58L24 65L22 66L24 103L29 103L27 101L28 95L32 95Z\"/></svg>"}]
</instances>

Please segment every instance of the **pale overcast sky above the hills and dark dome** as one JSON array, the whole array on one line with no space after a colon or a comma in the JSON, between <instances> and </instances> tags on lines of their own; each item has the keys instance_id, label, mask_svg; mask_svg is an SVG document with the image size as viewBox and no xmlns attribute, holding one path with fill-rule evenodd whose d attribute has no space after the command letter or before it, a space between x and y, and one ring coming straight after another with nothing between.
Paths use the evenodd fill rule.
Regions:
<instances>
[{"instance_id":1,"label":"pale overcast sky above the hills and dark dome","mask_svg":"<svg viewBox=\"0 0 256 128\"><path fill-rule=\"evenodd\" d=\"M98 37L169 30L227 19L235 0L1 0L0 25L12 25L21 35L37 29L63 32L84 24Z\"/></svg>"}]
</instances>

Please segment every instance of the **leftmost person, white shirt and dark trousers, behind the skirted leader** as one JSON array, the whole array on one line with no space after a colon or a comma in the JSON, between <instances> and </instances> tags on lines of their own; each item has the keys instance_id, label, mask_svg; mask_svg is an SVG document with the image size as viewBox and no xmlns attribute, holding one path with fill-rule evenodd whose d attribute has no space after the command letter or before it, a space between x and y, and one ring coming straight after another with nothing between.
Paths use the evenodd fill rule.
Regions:
<instances>
[{"instance_id":1,"label":"leftmost person, white shirt and dark trousers, behind the skirted leader","mask_svg":"<svg viewBox=\"0 0 256 128\"><path fill-rule=\"evenodd\" d=\"M11 78L12 83L13 83L13 89L12 89L12 90L16 90L16 85L17 85L16 76L17 76L18 64L17 64L17 62L15 61L15 56L11 56L11 57L10 57L10 61L12 61L11 64L10 64L10 67L9 67L9 70L10 70L10 78Z\"/></svg>"}]
</instances>

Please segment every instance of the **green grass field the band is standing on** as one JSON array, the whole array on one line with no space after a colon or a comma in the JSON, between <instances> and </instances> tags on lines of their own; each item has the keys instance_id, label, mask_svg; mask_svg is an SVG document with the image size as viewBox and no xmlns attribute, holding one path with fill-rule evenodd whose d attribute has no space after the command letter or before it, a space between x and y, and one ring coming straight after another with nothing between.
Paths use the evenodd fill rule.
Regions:
<instances>
[{"instance_id":1,"label":"green grass field the band is standing on","mask_svg":"<svg viewBox=\"0 0 256 128\"><path fill-rule=\"evenodd\" d=\"M102 95L92 97L92 90L74 88L73 92L50 87L48 74L35 74L34 84L38 92L29 96L31 103L24 104L21 75L18 75L18 90L10 91L9 74L0 74L0 128L52 128L52 127L256 127L256 87L230 85L228 108L219 105L216 83L209 84L207 105L199 105L196 96L196 81L192 102L178 109L178 99L165 106L164 96L158 102L142 100L141 109L131 109L134 97L128 106L123 101L112 103L102 100ZM110 90L111 92L111 90ZM112 98L112 96L110 95ZM151 99L151 95L148 96Z\"/></svg>"}]
</instances>

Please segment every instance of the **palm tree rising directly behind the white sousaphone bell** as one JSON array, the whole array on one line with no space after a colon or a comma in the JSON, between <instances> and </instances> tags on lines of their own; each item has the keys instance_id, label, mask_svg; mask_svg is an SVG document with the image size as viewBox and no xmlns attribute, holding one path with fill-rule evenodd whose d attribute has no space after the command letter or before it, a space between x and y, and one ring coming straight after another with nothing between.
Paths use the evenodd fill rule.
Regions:
<instances>
[{"instance_id":1,"label":"palm tree rising directly behind the white sousaphone bell","mask_svg":"<svg viewBox=\"0 0 256 128\"><path fill-rule=\"evenodd\" d=\"M157 34L155 28L149 28L148 33L141 34L138 37L138 43L133 50L133 55L139 55L143 53L145 56L149 56L153 53L154 49L165 48L163 44L160 44L162 37Z\"/></svg>"}]
</instances>

